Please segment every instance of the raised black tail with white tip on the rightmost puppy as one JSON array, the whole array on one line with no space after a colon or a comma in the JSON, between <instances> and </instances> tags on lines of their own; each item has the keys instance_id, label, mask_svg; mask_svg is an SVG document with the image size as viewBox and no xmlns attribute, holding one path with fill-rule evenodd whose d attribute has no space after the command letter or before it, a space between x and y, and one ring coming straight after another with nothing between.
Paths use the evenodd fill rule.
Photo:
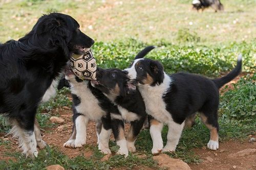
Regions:
<instances>
[{"instance_id":1,"label":"raised black tail with white tip on the rightmost puppy","mask_svg":"<svg viewBox=\"0 0 256 170\"><path fill-rule=\"evenodd\" d=\"M242 70L242 54L238 56L238 61L237 61L237 66L229 72L226 76L219 78L219 79L214 79L214 83L218 88L221 88L224 84L230 82L233 80L235 77L237 77Z\"/></svg>"}]
</instances>

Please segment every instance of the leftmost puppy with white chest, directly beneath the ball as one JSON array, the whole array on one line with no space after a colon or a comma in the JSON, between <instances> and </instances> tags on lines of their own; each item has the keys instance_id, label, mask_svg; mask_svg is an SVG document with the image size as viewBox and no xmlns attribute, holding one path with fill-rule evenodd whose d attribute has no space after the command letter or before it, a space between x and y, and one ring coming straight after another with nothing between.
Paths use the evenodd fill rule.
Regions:
<instances>
[{"instance_id":1,"label":"leftmost puppy with white chest, directly beneath the ball","mask_svg":"<svg viewBox=\"0 0 256 170\"><path fill-rule=\"evenodd\" d=\"M73 98L73 131L63 144L67 148L80 148L86 144L87 124L96 122L98 148L104 154L111 154L109 139L112 133L110 112L118 112L117 107L89 80L80 80L71 69L66 69L65 77L59 81L58 89L69 87ZM102 125L102 126L101 126Z\"/></svg>"}]
</instances>

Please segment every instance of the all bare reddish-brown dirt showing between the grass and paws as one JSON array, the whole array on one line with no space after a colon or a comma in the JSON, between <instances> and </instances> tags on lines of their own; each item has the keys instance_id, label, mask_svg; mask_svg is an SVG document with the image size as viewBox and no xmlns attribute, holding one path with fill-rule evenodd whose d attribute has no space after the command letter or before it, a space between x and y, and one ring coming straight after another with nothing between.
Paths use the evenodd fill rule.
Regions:
<instances>
[{"instance_id":1,"label":"all bare reddish-brown dirt showing between the grass and paws","mask_svg":"<svg viewBox=\"0 0 256 170\"><path fill-rule=\"evenodd\" d=\"M239 78L231 81L228 86L232 88L231 83L235 83L239 80ZM70 158L76 157L78 155L84 155L86 157L90 157L93 152L90 149L78 148L78 149L70 149L64 148L63 143L65 143L71 133L72 133L72 110L71 108L58 108L53 111L58 112L61 118L65 119L65 123L63 125L58 125L54 129L51 129L50 132L48 130L42 131L42 139L45 140L50 146L56 146L60 151L64 154L68 155ZM59 130L60 126L64 126L63 130ZM127 131L129 127L126 126L125 129ZM8 137L10 143L8 146L0 145L0 160L8 160L14 159L13 157L8 157L4 155L5 151L19 151L17 148L17 140L11 138L11 136L5 136L5 133L0 133L0 137ZM255 134L252 137L256 137ZM112 136L112 140L113 140ZM249 137L248 137L249 140ZM256 149L256 142L249 142L248 140L241 141L225 141L220 143L220 149L218 151L210 151L203 147L202 149L195 149L195 153L199 155L199 157L203 160L201 163L190 163L188 164L193 170L215 170L215 169L256 169L256 152L246 155L246 156L232 156L239 151L245 149ZM88 145L96 145L97 136L95 130L95 123L90 122L87 128L87 144ZM152 169L152 168L141 168L135 167L133 169Z\"/></svg>"}]
</instances>

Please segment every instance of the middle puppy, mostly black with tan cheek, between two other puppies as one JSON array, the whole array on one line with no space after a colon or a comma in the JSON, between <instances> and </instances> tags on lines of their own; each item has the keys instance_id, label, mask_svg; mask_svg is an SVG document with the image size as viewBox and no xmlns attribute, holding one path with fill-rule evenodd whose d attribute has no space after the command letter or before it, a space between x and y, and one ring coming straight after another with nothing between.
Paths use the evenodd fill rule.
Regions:
<instances>
[{"instance_id":1,"label":"middle puppy, mostly black with tan cheek, between two other puppies","mask_svg":"<svg viewBox=\"0 0 256 170\"><path fill-rule=\"evenodd\" d=\"M97 80L91 81L92 85L105 94L114 103L119 112L111 112L111 125L119 145L118 154L128 155L135 152L135 140L146 118L145 104L136 87L136 82L127 78L127 73L120 69L97 68ZM131 128L125 139L124 122L130 122Z\"/></svg>"}]
</instances>

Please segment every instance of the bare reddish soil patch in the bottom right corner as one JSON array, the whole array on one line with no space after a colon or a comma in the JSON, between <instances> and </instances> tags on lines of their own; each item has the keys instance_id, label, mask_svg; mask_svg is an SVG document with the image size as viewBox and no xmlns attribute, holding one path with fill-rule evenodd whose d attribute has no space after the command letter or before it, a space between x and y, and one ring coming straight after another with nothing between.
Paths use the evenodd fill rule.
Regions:
<instances>
[{"instance_id":1,"label":"bare reddish soil patch in the bottom right corner","mask_svg":"<svg viewBox=\"0 0 256 170\"><path fill-rule=\"evenodd\" d=\"M256 153L246 156L230 156L230 154L235 154L245 149L256 149L256 142L249 142L248 140L245 142L230 140L220 143L220 148L217 151L196 149L195 153L203 159L203 162L199 164L190 163L188 165L193 170L256 169Z\"/></svg>"}]
</instances>

